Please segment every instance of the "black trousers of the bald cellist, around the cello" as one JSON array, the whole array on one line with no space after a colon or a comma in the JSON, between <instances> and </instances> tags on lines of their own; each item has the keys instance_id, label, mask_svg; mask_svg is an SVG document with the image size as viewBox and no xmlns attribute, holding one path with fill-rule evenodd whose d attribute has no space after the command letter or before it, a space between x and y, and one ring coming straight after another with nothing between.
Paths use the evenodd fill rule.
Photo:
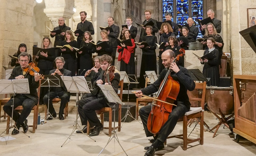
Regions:
<instances>
[{"instance_id":1,"label":"black trousers of the bald cellist, around the cello","mask_svg":"<svg viewBox=\"0 0 256 156\"><path fill-rule=\"evenodd\" d=\"M166 121L166 123L160 129L157 139L160 140L161 142L165 142L166 138L173 131L179 118L183 116L187 111L189 111L189 109L183 104L177 104L177 107L173 106L172 112L169 114L168 120ZM150 112L151 112L151 105L144 106L139 109L139 116L141 118L144 130L145 130L145 134L147 137L154 136L152 133L149 132L147 128L147 122L148 122Z\"/></svg>"}]
</instances>

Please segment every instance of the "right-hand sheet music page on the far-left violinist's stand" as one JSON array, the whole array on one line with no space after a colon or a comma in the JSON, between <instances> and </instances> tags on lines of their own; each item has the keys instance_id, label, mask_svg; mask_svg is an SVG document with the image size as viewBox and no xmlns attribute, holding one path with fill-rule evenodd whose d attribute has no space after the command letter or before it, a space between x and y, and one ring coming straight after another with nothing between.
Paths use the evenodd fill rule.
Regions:
<instances>
[{"instance_id":1,"label":"right-hand sheet music page on the far-left violinist's stand","mask_svg":"<svg viewBox=\"0 0 256 156\"><path fill-rule=\"evenodd\" d=\"M15 93L23 93L23 94L29 94L29 85L28 85L28 79L12 79L11 80L14 85L14 91Z\"/></svg>"}]
</instances>

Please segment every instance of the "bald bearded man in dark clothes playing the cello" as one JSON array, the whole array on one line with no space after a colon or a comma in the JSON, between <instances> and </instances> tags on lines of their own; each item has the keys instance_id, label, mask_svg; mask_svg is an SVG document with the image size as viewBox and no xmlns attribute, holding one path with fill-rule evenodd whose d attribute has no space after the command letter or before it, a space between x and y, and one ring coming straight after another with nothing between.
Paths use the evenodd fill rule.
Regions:
<instances>
[{"instance_id":1,"label":"bald bearded man in dark clothes playing the cello","mask_svg":"<svg viewBox=\"0 0 256 156\"><path fill-rule=\"evenodd\" d=\"M170 76L179 82L180 84L180 91L178 93L177 99L174 102L175 105L172 107L172 112L168 116L168 120L166 123L161 127L160 131L156 136L150 133L147 128L148 118L151 112L151 106L144 106L139 109L139 115L141 121L143 123L143 127L145 130L145 134L147 137L153 136L154 142L150 147L145 147L144 149L147 150L145 156L153 156L156 149L163 149L164 142L167 139L168 135L171 134L173 131L178 119L183 116L187 111L190 109L190 103L187 95L187 90L193 91L195 89L195 82L190 77L188 70L176 63L172 63L175 59L175 53L172 50L166 50L162 53L162 64L165 66L165 69L161 72L159 78L150 86L137 91L135 95L137 97L141 97L141 93L145 95L150 95L154 92L157 92L162 80L165 78L168 69L171 69L172 72Z\"/></svg>"}]
</instances>

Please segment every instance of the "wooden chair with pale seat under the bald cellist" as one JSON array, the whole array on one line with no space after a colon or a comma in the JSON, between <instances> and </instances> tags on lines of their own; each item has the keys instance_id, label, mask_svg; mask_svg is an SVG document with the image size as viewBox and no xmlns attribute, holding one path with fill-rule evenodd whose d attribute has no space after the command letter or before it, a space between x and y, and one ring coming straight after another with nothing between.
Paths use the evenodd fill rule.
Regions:
<instances>
[{"instance_id":1,"label":"wooden chair with pale seat under the bald cellist","mask_svg":"<svg viewBox=\"0 0 256 156\"><path fill-rule=\"evenodd\" d=\"M189 98L189 100L193 101L201 101L201 107L190 107L190 110L185 113L183 118L183 134L181 135L173 135L168 136L169 138L179 138L183 139L183 150L187 150L187 144L192 142L196 142L200 140L200 145L203 145L203 124L200 124L200 137L196 139L189 139L187 138L187 120L193 118L199 118L201 123L203 123L203 108L204 108L204 101L205 101L205 92L206 92L206 82L203 83L196 83L195 89L202 89L202 98ZM165 142L166 144L166 142Z\"/></svg>"}]
</instances>

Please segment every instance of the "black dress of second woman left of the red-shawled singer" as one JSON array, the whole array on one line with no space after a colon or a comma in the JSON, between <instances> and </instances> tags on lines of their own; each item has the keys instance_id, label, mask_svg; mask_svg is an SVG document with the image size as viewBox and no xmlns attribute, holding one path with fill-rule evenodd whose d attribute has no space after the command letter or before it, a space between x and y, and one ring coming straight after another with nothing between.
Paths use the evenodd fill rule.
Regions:
<instances>
[{"instance_id":1,"label":"black dress of second woman left of the red-shawled singer","mask_svg":"<svg viewBox=\"0 0 256 156\"><path fill-rule=\"evenodd\" d=\"M92 43L95 43L94 41L92 41ZM88 51L83 51L80 54L80 72L88 71L92 68L93 64L92 64L92 53L96 52L96 48L92 47L92 44L90 43L86 43L85 41L82 41L80 44L80 48L82 47L87 47Z\"/></svg>"}]
</instances>

